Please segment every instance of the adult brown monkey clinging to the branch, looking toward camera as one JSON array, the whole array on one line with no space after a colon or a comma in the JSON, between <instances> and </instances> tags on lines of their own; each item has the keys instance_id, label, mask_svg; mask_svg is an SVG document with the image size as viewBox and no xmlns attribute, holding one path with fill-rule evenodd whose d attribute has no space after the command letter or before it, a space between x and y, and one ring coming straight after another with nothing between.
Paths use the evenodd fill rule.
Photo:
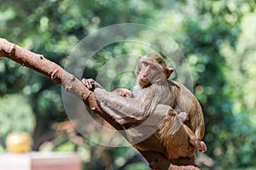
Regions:
<instances>
[{"instance_id":1,"label":"adult brown monkey clinging to the branch, looking toward camera","mask_svg":"<svg viewBox=\"0 0 256 170\"><path fill-rule=\"evenodd\" d=\"M155 150L169 159L189 157L195 161L195 148L207 150L206 145L200 141L205 130L201 106L182 84L167 80L172 71L160 55L145 55L139 60L136 69L137 85L133 90L135 98L122 98L96 88L96 99L103 111L128 129L128 140L138 150ZM93 81L83 82L88 88L93 88L94 83L98 86ZM186 116L180 121L176 111L181 112L182 116L183 111L189 113L186 124L183 125ZM137 127L142 122L143 126ZM148 131L154 134L140 141L140 137Z\"/></svg>"}]
</instances>

